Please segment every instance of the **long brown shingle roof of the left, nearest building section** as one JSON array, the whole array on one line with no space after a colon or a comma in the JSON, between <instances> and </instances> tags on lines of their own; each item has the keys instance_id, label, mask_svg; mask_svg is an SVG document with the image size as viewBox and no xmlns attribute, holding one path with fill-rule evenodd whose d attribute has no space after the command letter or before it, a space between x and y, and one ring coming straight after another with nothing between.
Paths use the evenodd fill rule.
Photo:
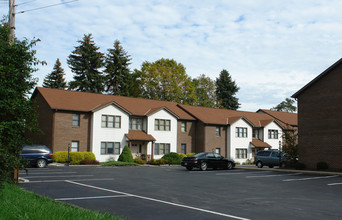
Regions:
<instances>
[{"instance_id":1,"label":"long brown shingle roof of the left, nearest building section","mask_svg":"<svg viewBox=\"0 0 342 220\"><path fill-rule=\"evenodd\" d=\"M89 112L110 103L115 103L130 114L136 116L145 116L151 111L151 109L156 110L164 107L180 119L194 120L191 115L180 109L176 102L76 92L43 87L37 87L33 96L37 92L44 97L51 109Z\"/></svg>"}]
</instances>

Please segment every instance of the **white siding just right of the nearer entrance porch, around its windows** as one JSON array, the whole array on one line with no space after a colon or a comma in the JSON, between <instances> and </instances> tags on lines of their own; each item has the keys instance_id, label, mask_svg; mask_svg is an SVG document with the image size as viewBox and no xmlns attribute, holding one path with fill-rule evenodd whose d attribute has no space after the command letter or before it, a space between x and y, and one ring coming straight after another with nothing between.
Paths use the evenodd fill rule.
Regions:
<instances>
[{"instance_id":1,"label":"white siding just right of the nearer entrance porch, around its windows","mask_svg":"<svg viewBox=\"0 0 342 220\"><path fill-rule=\"evenodd\" d=\"M170 120L170 131L156 131L154 128L155 119ZM155 139L155 143L170 144L170 152L177 152L177 118L168 111L162 109L150 115L147 119L147 133L151 134ZM152 143L147 145L147 154L152 153ZM154 159L160 159L163 155L155 155Z\"/></svg>"}]
</instances>

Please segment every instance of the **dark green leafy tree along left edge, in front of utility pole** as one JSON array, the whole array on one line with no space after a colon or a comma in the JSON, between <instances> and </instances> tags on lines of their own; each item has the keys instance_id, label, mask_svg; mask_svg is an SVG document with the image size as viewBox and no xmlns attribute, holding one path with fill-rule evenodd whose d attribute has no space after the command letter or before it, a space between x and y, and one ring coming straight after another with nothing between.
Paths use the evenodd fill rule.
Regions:
<instances>
[{"instance_id":1,"label":"dark green leafy tree along left edge, in front of utility pole","mask_svg":"<svg viewBox=\"0 0 342 220\"><path fill-rule=\"evenodd\" d=\"M0 24L0 183L13 182L13 171L21 168L20 151L25 132L37 129L33 103L27 95L36 85L32 73L42 63L32 48L39 40L13 39L10 30Z\"/></svg>"}]
</instances>

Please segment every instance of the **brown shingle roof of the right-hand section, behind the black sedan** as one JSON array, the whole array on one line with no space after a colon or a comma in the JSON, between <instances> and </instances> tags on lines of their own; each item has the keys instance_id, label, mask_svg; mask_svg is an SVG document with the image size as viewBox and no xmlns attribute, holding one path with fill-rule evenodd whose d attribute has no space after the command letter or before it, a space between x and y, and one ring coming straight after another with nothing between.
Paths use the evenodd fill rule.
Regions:
<instances>
[{"instance_id":1,"label":"brown shingle roof of the right-hand section, behind the black sedan","mask_svg":"<svg viewBox=\"0 0 342 220\"><path fill-rule=\"evenodd\" d=\"M264 113L234 111L229 109L216 109L190 105L179 106L205 124L233 124L241 117L244 117L248 122L254 125L254 127L265 127L274 121L274 118ZM279 124L280 126L283 126L281 123Z\"/></svg>"}]
</instances>

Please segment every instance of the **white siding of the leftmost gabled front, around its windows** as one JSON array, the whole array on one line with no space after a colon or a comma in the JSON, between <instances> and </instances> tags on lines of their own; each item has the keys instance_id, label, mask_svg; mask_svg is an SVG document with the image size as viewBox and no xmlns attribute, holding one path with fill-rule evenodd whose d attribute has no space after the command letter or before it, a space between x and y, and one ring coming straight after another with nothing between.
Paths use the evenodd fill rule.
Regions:
<instances>
[{"instance_id":1,"label":"white siding of the leftmost gabled front, around its windows","mask_svg":"<svg viewBox=\"0 0 342 220\"><path fill-rule=\"evenodd\" d=\"M121 128L102 128L102 115L121 116ZM101 142L119 142L121 153L124 146L127 145L125 134L128 133L128 120L128 114L115 105L109 105L93 113L91 149L98 161L105 162L109 159L117 160L119 158L119 154L101 155Z\"/></svg>"}]
</instances>

